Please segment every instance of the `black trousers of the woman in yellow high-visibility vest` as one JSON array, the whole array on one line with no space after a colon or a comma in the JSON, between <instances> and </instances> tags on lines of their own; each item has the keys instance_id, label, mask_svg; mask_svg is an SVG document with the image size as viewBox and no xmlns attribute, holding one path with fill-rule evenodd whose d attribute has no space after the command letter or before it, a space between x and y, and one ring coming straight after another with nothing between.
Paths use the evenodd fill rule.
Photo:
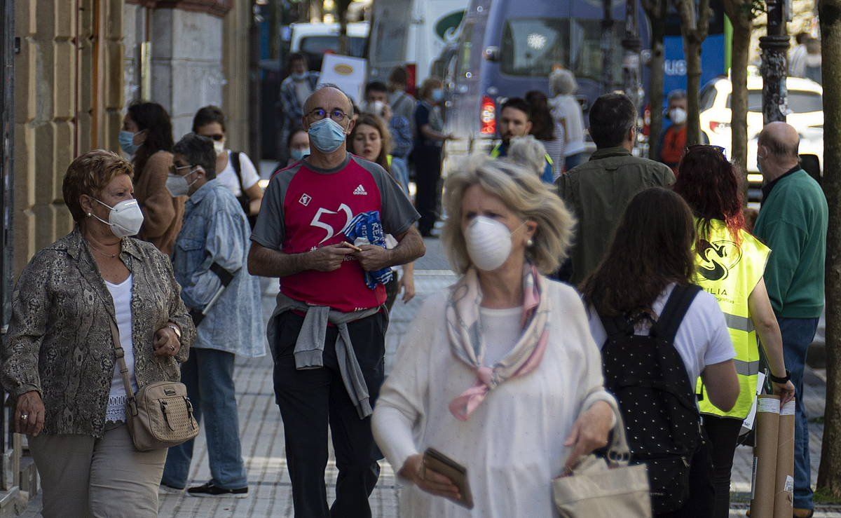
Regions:
<instances>
[{"instance_id":1,"label":"black trousers of the woman in yellow high-visibility vest","mask_svg":"<svg viewBox=\"0 0 841 518\"><path fill-rule=\"evenodd\" d=\"M742 420L704 415L704 431L710 439L712 487L716 491L712 517L727 518L730 515L730 473L733 470L738 432L742 431Z\"/></svg>"}]
</instances>

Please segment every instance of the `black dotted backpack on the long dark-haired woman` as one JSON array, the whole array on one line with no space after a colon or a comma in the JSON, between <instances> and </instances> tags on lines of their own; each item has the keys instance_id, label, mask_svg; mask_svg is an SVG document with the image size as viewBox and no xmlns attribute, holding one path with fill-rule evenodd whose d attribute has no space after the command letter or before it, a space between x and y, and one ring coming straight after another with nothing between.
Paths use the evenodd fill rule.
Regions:
<instances>
[{"instance_id":1,"label":"black dotted backpack on the long dark-haired woman","mask_svg":"<svg viewBox=\"0 0 841 518\"><path fill-rule=\"evenodd\" d=\"M674 348L674 336L701 288L675 285L648 336L632 321L600 316L607 340L601 349L605 388L625 420L632 464L648 465L655 513L679 510L689 498L690 463L701 446L701 415L694 382Z\"/></svg>"}]
</instances>

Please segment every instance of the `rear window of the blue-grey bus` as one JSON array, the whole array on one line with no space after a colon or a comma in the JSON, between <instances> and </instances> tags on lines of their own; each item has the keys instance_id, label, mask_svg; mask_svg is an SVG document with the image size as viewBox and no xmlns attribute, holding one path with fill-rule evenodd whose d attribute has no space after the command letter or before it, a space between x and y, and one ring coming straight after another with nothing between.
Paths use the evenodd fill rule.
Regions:
<instances>
[{"instance_id":1,"label":"rear window of the blue-grey bus","mask_svg":"<svg viewBox=\"0 0 841 518\"><path fill-rule=\"evenodd\" d=\"M547 77L569 64L569 19L510 18L502 31L500 70L511 76Z\"/></svg>"}]
</instances>

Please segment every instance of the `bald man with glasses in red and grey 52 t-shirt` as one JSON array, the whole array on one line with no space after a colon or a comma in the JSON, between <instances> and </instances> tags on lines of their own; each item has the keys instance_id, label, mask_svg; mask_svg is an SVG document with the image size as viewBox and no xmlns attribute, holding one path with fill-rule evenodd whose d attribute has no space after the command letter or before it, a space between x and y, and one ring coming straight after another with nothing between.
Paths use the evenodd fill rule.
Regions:
<instances>
[{"instance_id":1,"label":"bald man with glasses in red and grey 52 t-shirt","mask_svg":"<svg viewBox=\"0 0 841 518\"><path fill-rule=\"evenodd\" d=\"M388 314L384 286L369 288L365 274L425 251L414 228L420 215L399 184L346 151L352 116L337 87L307 99L310 154L272 177L251 235L249 271L281 279L267 335L298 516L371 515L382 455L370 416L383 382ZM346 241L352 220L374 212L373 225L394 235L395 248ZM324 480L328 424L339 470L332 508Z\"/></svg>"}]
</instances>

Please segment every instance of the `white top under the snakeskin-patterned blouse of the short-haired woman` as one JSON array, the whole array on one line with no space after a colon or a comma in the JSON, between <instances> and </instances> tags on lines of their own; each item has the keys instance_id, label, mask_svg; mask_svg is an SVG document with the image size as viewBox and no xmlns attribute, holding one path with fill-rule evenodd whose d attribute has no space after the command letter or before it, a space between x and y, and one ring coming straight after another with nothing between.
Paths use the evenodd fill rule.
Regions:
<instances>
[{"instance_id":1,"label":"white top under the snakeskin-patterned blouse of the short-haired woman","mask_svg":"<svg viewBox=\"0 0 841 518\"><path fill-rule=\"evenodd\" d=\"M137 380L135 379L135 349L131 339L131 288L132 277L125 279L122 283L114 284L105 281L111 299L114 299L114 315L117 317L117 330L119 330L119 345L123 347L125 354L125 366L129 367L129 379L131 389L137 392ZM108 407L105 412L105 420L111 422L125 421L125 385L123 375L119 373L119 363L114 362L114 376L111 378L111 390L108 392Z\"/></svg>"}]
</instances>

